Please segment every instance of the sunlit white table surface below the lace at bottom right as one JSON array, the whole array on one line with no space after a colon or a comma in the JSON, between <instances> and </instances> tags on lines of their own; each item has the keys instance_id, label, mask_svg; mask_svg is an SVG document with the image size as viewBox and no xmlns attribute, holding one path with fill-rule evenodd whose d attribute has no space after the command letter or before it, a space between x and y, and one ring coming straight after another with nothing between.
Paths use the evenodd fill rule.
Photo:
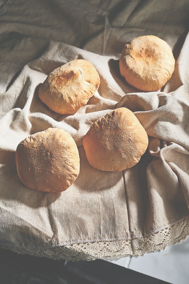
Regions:
<instances>
[{"instance_id":1,"label":"sunlit white table surface below the lace at bottom right","mask_svg":"<svg viewBox=\"0 0 189 284\"><path fill-rule=\"evenodd\" d=\"M103 257L103 260L124 266L172 284L189 283L189 236L176 245L143 256Z\"/></svg>"}]
</instances>

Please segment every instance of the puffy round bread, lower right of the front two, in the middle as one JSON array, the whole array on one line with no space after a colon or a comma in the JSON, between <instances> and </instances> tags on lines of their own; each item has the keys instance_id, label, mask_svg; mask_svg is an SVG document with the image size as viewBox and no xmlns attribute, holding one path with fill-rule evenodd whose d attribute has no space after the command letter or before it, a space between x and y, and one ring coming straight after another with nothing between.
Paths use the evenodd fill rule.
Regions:
<instances>
[{"instance_id":1,"label":"puffy round bread, lower right of the front two, in the middle","mask_svg":"<svg viewBox=\"0 0 189 284\"><path fill-rule=\"evenodd\" d=\"M148 135L133 112L122 107L98 119L83 137L83 146L91 166L121 172L138 163Z\"/></svg>"}]
</instances>

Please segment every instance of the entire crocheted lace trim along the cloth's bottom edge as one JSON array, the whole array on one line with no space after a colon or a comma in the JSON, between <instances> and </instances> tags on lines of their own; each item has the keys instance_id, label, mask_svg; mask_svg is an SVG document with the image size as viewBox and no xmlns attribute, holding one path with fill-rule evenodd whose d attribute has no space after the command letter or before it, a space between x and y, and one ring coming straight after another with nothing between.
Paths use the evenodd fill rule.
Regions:
<instances>
[{"instance_id":1,"label":"entire crocheted lace trim along the cloth's bottom edge","mask_svg":"<svg viewBox=\"0 0 189 284\"><path fill-rule=\"evenodd\" d=\"M189 216L182 218L159 231L152 232L145 237L116 241L95 241L59 245L52 247L16 247L10 243L0 243L0 247L11 249L18 253L27 253L35 256L46 256L53 259L66 260L95 260L103 256L141 255L165 249L184 240L189 235Z\"/></svg>"}]
</instances>

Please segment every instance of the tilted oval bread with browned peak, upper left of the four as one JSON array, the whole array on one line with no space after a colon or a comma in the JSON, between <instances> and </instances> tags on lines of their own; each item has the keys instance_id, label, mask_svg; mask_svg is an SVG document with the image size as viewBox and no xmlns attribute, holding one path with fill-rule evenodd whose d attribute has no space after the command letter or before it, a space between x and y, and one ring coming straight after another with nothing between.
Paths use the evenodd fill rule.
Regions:
<instances>
[{"instance_id":1,"label":"tilted oval bread with browned peak, upper left of the four","mask_svg":"<svg viewBox=\"0 0 189 284\"><path fill-rule=\"evenodd\" d=\"M51 110L71 114L86 105L100 84L92 63L70 61L52 71L39 88L39 97Z\"/></svg>"}]
</instances>

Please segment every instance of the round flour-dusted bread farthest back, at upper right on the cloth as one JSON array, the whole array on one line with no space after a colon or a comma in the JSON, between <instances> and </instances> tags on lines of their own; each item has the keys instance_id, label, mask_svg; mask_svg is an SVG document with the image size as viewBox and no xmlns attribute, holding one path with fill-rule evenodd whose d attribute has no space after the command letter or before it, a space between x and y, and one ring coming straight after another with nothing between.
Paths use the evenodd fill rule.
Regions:
<instances>
[{"instance_id":1,"label":"round flour-dusted bread farthest back, at upper right on the cloth","mask_svg":"<svg viewBox=\"0 0 189 284\"><path fill-rule=\"evenodd\" d=\"M123 48L119 61L121 76L133 87L158 91L171 78L175 59L171 47L156 36L140 36Z\"/></svg>"}]
</instances>

